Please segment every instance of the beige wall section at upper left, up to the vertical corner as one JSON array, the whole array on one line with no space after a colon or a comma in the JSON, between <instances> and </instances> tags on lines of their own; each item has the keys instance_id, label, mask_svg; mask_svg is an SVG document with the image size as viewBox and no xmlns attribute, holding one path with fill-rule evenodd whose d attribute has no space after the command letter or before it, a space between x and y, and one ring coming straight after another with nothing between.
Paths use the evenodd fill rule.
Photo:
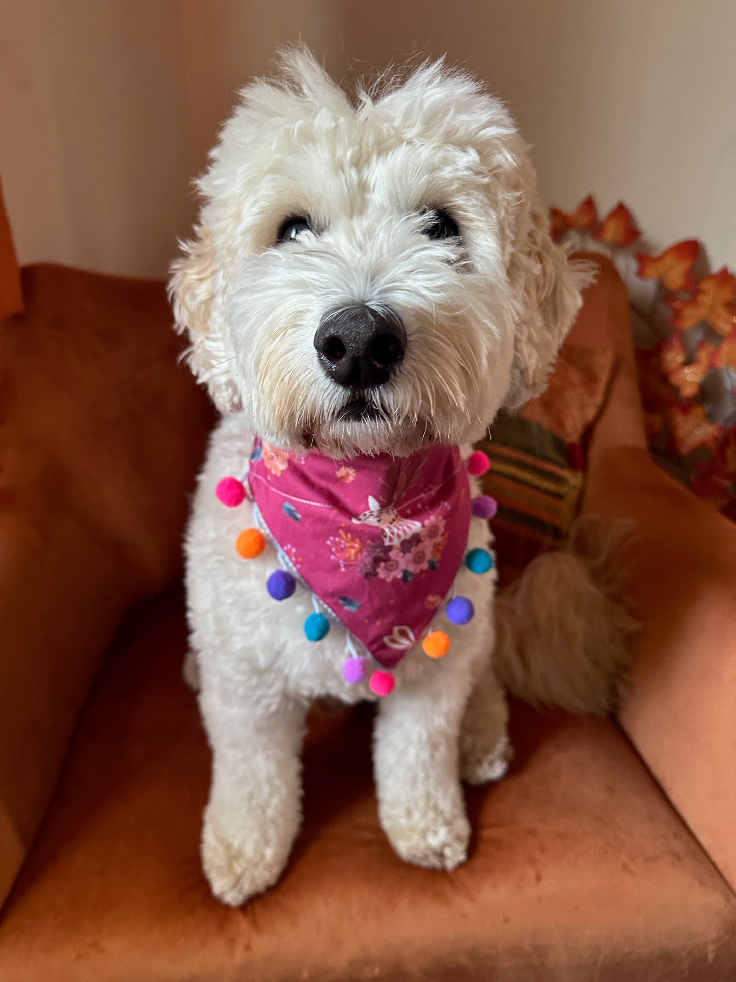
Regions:
<instances>
[{"instance_id":1,"label":"beige wall section at upper left, up to the vertical corner","mask_svg":"<svg viewBox=\"0 0 736 982\"><path fill-rule=\"evenodd\" d=\"M188 224L177 0L0 0L0 175L22 261L161 275Z\"/></svg>"}]
</instances>

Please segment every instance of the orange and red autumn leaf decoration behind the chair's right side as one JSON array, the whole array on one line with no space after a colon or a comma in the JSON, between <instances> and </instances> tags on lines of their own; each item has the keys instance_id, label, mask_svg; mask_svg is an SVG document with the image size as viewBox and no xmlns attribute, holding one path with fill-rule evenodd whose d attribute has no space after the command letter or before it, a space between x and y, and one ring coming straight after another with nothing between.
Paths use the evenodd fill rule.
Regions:
<instances>
[{"instance_id":1,"label":"orange and red autumn leaf decoration behind the chair's right side","mask_svg":"<svg viewBox=\"0 0 736 982\"><path fill-rule=\"evenodd\" d=\"M574 211L551 208L550 226L555 242L605 252L628 280L632 311L652 339L636 352L650 449L697 495L736 519L733 272L724 266L699 275L697 239L632 254L642 233L622 201L600 219L589 194ZM634 266L639 281L654 281L650 300L644 283L636 286Z\"/></svg>"}]
</instances>

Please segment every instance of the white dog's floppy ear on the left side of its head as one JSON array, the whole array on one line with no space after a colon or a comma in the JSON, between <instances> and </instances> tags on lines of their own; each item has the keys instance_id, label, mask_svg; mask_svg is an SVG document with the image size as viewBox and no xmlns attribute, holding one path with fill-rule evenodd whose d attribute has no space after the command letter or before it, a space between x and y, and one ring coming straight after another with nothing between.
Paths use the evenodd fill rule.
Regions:
<instances>
[{"instance_id":1,"label":"white dog's floppy ear on the left side of its head","mask_svg":"<svg viewBox=\"0 0 736 982\"><path fill-rule=\"evenodd\" d=\"M182 243L184 255L172 263L169 299L177 331L187 331L191 341L186 352L189 366L225 413L237 409L238 396L231 372L233 353L226 350L214 310L217 249L206 229L197 226L194 234L194 239Z\"/></svg>"}]
</instances>

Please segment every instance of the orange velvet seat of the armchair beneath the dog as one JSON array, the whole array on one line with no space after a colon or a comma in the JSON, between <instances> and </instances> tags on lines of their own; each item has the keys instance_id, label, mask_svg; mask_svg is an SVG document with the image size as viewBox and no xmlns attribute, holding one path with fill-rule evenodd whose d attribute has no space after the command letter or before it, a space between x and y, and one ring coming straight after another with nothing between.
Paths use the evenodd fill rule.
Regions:
<instances>
[{"instance_id":1,"label":"orange velvet seat of the armchair beneath the dog","mask_svg":"<svg viewBox=\"0 0 736 982\"><path fill-rule=\"evenodd\" d=\"M511 772L467 791L453 873L386 841L370 709L314 713L289 868L221 905L199 865L209 752L185 646L178 594L122 628L5 905L2 982L731 977L733 896L625 736L520 705Z\"/></svg>"}]
</instances>

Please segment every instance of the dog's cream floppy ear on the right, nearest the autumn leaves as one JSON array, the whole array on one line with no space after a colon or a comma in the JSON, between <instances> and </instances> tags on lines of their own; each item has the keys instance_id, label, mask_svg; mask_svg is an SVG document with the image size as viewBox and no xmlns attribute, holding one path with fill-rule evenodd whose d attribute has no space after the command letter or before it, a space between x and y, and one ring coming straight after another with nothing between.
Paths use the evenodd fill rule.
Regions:
<instances>
[{"instance_id":1,"label":"dog's cream floppy ear on the right, nearest the autumn leaves","mask_svg":"<svg viewBox=\"0 0 736 982\"><path fill-rule=\"evenodd\" d=\"M571 261L550 238L539 198L519 209L508 278L520 304L511 385L504 405L518 409L541 395L559 347L580 309L580 291L594 279L593 267Z\"/></svg>"}]
</instances>

